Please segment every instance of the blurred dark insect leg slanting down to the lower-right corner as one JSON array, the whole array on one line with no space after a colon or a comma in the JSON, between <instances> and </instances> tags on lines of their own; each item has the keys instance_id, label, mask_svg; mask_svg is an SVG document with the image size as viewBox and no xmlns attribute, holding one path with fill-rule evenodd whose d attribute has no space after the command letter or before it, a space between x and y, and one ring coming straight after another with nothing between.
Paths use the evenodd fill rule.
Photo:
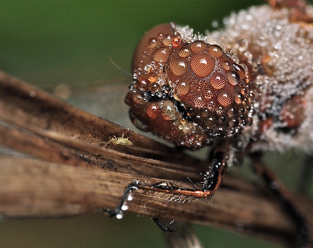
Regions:
<instances>
[{"instance_id":1,"label":"blurred dark insect leg slanting down to the lower-right corner","mask_svg":"<svg viewBox=\"0 0 313 248\"><path fill-rule=\"evenodd\" d=\"M277 175L270 170L261 160L261 153L251 154L252 164L256 173L269 185L269 188L277 195L285 205L292 218L299 225L298 247L309 247L310 227L307 224L305 214L299 209L293 194L282 184Z\"/></svg>"}]
</instances>

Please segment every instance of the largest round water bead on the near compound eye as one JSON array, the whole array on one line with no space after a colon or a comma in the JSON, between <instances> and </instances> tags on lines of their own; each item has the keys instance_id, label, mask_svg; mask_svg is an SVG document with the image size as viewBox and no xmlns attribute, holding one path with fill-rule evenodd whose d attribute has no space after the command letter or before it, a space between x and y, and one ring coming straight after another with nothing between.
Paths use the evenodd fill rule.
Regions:
<instances>
[{"instance_id":1,"label":"largest round water bead on the near compound eye","mask_svg":"<svg viewBox=\"0 0 313 248\"><path fill-rule=\"evenodd\" d=\"M190 60L190 67L199 78L204 78L210 75L214 66L215 59L205 53L195 54Z\"/></svg>"}]
</instances>

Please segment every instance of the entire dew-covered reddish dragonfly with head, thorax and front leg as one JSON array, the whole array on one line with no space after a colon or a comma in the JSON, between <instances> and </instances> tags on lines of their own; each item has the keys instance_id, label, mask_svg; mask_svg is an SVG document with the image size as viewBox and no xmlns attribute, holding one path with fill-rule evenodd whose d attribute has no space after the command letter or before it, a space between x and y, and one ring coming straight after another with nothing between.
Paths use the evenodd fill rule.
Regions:
<instances>
[{"instance_id":1,"label":"entire dew-covered reddish dragonfly with head, thorax and front leg","mask_svg":"<svg viewBox=\"0 0 313 248\"><path fill-rule=\"evenodd\" d=\"M270 3L232 14L222 31L162 24L139 42L125 99L133 123L189 149L212 146L201 189L153 190L206 199L243 154L313 152L313 8Z\"/></svg>"}]
</instances>

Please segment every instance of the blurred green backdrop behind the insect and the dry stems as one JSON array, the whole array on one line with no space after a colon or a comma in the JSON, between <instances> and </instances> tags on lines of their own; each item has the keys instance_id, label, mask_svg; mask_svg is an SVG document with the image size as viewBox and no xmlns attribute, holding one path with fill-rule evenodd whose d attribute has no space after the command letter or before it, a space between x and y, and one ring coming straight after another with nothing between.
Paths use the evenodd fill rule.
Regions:
<instances>
[{"instance_id":1,"label":"blurred green backdrop behind the insect and the dry stems","mask_svg":"<svg viewBox=\"0 0 313 248\"><path fill-rule=\"evenodd\" d=\"M131 72L136 43L149 28L176 22L204 32L213 29L213 20L221 24L229 13L262 3L2 1L0 68L51 92L67 85L70 103L135 130L123 104L131 77L117 69L109 57ZM267 161L275 164L289 187L299 188L302 160L298 155L270 154ZM296 165L285 166L290 163ZM195 228L205 247L281 247L211 227ZM0 222L0 247L164 247L162 235L152 220L131 214L122 220L93 212L65 219Z\"/></svg>"}]
</instances>

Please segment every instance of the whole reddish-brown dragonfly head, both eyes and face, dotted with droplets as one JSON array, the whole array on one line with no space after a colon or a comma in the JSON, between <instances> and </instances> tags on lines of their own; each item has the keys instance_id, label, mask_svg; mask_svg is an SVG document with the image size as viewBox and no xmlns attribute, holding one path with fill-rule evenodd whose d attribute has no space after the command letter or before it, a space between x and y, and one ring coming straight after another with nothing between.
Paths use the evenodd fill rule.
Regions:
<instances>
[{"instance_id":1,"label":"whole reddish-brown dragonfly head, both eyes and face, dotted with droplets","mask_svg":"<svg viewBox=\"0 0 313 248\"><path fill-rule=\"evenodd\" d=\"M218 45L181 40L170 24L141 39L133 73L126 97L132 119L176 144L198 148L251 121L254 94L244 68Z\"/></svg>"}]
</instances>

